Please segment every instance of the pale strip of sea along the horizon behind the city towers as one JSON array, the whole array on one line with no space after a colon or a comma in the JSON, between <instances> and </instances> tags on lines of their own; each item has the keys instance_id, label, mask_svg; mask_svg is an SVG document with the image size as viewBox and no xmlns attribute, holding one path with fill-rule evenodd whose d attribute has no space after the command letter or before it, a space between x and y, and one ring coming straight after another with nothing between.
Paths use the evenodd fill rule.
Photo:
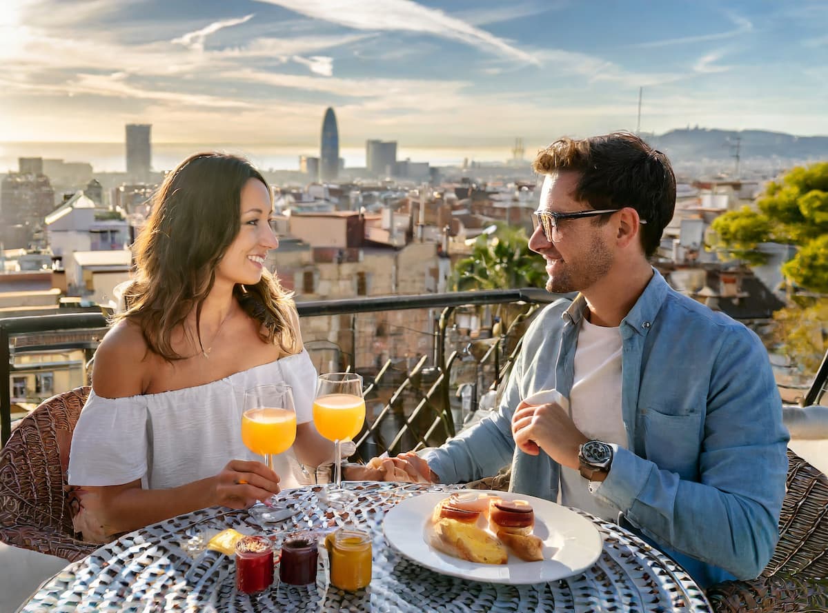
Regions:
<instances>
[{"instance_id":1,"label":"pale strip of sea along the horizon behind the city towers","mask_svg":"<svg viewBox=\"0 0 828 613\"><path fill-rule=\"evenodd\" d=\"M299 170L299 156L319 156L319 146L263 145L258 143L153 142L152 170L171 170L181 160L198 151L223 151L247 157L262 170ZM511 157L506 146L411 147L398 146L397 160L429 162L433 166L462 165L469 162L506 162ZM126 145L122 142L6 141L0 142L0 173L15 172L18 158L42 157L65 162L86 162L99 173L126 171ZM339 157L345 168L365 166L364 146L343 146Z\"/></svg>"}]
</instances>

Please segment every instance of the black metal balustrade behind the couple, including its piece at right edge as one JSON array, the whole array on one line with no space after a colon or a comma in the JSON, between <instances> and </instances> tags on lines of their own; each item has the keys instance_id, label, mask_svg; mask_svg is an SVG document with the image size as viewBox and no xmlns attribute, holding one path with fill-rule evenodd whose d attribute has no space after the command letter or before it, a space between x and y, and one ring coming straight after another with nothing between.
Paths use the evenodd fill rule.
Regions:
<instances>
[{"instance_id":1,"label":"black metal balustrade behind the couple, including its piece at right edge","mask_svg":"<svg viewBox=\"0 0 828 613\"><path fill-rule=\"evenodd\" d=\"M365 397L368 405L378 405L381 388L392 390L388 401L376 415L371 415L356 439L359 456L363 459L378 453L399 453L432 444L440 444L457 432L455 412L450 398L450 381L455 366L465 359L474 362L470 411L477 408L481 390L493 390L508 373L520 348L525 319L540 305L556 299L545 290L487 290L452 292L427 295L393 295L363 297L359 299L315 300L296 304L301 318L320 316L378 313L406 309L441 309L433 332L431 355L421 355L414 366L395 381L392 376L392 359L378 368L376 375L366 377ZM467 342L458 351L450 347L447 331L455 309L465 306L493 304L522 304L509 328L497 338ZM0 438L5 444L11 433L11 376L15 371L13 357L25 353L44 353L82 349L87 360L91 359L99 338L103 336L107 321L103 313L55 314L34 317L0 318ZM84 338L66 339L65 336ZM52 338L50 340L50 337ZM508 355L503 355L506 342L513 345ZM330 343L329 343L330 344ZM475 347L477 346L477 347ZM483 347L483 348L481 348ZM477 349L477 351L475 351ZM448 355L446 355L448 353ZM475 353L481 353L476 357ZM353 359L353 358L352 358ZM341 364L343 369L353 368L353 363ZM398 378L398 377L397 377ZM456 388L456 385L454 386ZM803 395L800 406L808 408L820 402L828 390L828 352L811 384ZM786 406L785 421L794 438L828 438L828 409L806 410Z\"/></svg>"}]
</instances>

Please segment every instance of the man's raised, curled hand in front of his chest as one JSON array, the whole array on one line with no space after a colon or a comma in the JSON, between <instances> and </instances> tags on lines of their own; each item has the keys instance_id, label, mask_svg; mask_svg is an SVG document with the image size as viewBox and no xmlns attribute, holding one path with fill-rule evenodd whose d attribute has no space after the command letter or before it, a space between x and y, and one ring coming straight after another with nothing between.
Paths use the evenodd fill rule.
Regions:
<instances>
[{"instance_id":1,"label":"man's raised, curled hand in front of his chest","mask_svg":"<svg viewBox=\"0 0 828 613\"><path fill-rule=\"evenodd\" d=\"M512 416L512 435L524 453L537 456L543 449L553 460L578 470L578 448L585 437L556 402L527 405L521 402Z\"/></svg>"}]
</instances>

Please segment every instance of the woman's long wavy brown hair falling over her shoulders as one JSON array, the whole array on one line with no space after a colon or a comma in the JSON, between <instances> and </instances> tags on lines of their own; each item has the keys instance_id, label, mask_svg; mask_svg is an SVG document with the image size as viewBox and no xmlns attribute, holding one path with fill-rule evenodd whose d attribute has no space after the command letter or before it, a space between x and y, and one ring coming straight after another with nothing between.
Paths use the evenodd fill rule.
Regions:
<instances>
[{"instance_id":1,"label":"woman's long wavy brown hair falling over her shoulders","mask_svg":"<svg viewBox=\"0 0 828 613\"><path fill-rule=\"evenodd\" d=\"M241 193L250 179L262 181L270 193L248 160L197 153L167 175L153 197L150 218L133 246L137 274L126 292L128 309L115 319L137 322L150 350L168 361L190 357L172 348L171 337L193 309L201 343L201 308L219 261L241 228ZM276 276L266 270L256 285L236 285L233 295L261 323L263 341L277 343L286 353L300 350L291 323L292 294Z\"/></svg>"}]
</instances>

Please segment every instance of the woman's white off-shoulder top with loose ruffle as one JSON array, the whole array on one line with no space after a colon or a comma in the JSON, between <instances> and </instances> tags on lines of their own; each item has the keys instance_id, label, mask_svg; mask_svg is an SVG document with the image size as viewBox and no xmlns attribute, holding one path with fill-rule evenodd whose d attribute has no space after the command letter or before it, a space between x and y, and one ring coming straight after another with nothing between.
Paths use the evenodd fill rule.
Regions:
<instances>
[{"instance_id":1,"label":"woman's white off-shoulder top with loose ruffle","mask_svg":"<svg viewBox=\"0 0 828 613\"><path fill-rule=\"evenodd\" d=\"M141 479L144 488L161 489L213 477L233 459L263 462L242 443L244 390L282 382L292 387L296 422L313 419L316 369L304 350L202 386L127 398L92 391L72 435L69 483ZM282 488L298 485L292 448L274 467Z\"/></svg>"}]
</instances>

